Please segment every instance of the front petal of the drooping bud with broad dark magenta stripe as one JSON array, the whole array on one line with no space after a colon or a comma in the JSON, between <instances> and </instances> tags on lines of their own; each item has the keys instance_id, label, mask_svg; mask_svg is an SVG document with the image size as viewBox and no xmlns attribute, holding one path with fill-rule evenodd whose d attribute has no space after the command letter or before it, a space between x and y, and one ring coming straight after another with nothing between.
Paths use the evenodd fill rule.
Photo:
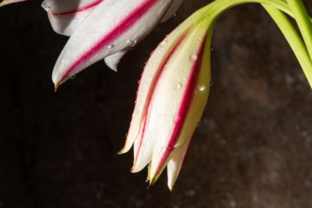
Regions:
<instances>
[{"instance_id":1,"label":"front petal of the drooping bud with broad dark magenta stripe","mask_svg":"<svg viewBox=\"0 0 312 208\"><path fill-rule=\"evenodd\" d=\"M161 153L161 157L151 162L150 184L155 183L175 152L189 141L207 103L210 48L207 51L206 34L204 23L199 23L180 37L181 42L171 52L158 78L153 95L155 106L149 113L155 111L164 119L158 117L156 121L156 126L162 129L157 131L153 155Z\"/></svg>"}]
</instances>

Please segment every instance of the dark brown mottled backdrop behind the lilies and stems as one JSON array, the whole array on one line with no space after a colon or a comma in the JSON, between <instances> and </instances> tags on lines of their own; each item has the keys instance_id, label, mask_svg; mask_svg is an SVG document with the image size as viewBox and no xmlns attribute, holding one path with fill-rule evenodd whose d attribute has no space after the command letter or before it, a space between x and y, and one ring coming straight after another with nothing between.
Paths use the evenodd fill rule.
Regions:
<instances>
[{"instance_id":1,"label":"dark brown mottled backdrop behind the lilies and stems","mask_svg":"<svg viewBox=\"0 0 312 208\"><path fill-rule=\"evenodd\" d=\"M40 0L1 7L0 208L312 208L312 91L260 4L217 21L213 85L173 191L165 172L147 190L147 170L130 173L132 151L117 155L151 51L209 2L184 0L118 73L100 61L56 93L67 37Z\"/></svg>"}]
</instances>

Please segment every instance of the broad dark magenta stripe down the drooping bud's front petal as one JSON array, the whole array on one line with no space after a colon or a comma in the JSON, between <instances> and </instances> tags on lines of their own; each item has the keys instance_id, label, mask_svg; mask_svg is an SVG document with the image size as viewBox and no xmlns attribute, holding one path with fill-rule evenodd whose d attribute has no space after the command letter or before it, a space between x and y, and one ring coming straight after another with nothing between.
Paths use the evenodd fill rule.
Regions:
<instances>
[{"instance_id":1,"label":"broad dark magenta stripe down the drooping bud's front petal","mask_svg":"<svg viewBox=\"0 0 312 208\"><path fill-rule=\"evenodd\" d=\"M186 85L185 90L184 90L183 99L182 99L182 102L180 104L180 108L178 109L178 114L175 118L175 125L173 127L172 134L171 134L170 139L168 141L166 151L161 155L158 170L160 170L163 163L167 160L169 154L174 150L174 145L175 145L177 139L179 138L182 127L184 126L184 123L185 123L185 120L187 117L187 113L189 111L193 97L195 95L198 77L199 77L200 72L201 72L200 69L201 69L202 60L203 60L206 35L207 35L207 33L202 38L203 41L202 41L201 46L199 48L200 53L198 54L198 57L192 66L190 76L189 76L189 79L187 81L187 85Z\"/></svg>"}]
</instances>

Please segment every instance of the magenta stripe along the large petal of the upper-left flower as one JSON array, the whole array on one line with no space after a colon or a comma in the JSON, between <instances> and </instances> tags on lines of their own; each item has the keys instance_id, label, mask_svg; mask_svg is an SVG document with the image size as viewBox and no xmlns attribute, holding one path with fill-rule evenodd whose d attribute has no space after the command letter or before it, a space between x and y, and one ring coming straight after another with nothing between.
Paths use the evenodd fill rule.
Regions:
<instances>
[{"instance_id":1,"label":"magenta stripe along the large petal of the upper-left flower","mask_svg":"<svg viewBox=\"0 0 312 208\"><path fill-rule=\"evenodd\" d=\"M60 81L63 80L68 74L80 67L83 63L89 60L96 53L100 52L105 46L112 43L114 40L119 38L125 31L129 30L139 19L142 14L147 13L159 0L146 0L135 10L133 10L125 19L111 30L108 34L105 34L102 39L93 45L88 51L82 54L63 74Z\"/></svg>"}]
</instances>

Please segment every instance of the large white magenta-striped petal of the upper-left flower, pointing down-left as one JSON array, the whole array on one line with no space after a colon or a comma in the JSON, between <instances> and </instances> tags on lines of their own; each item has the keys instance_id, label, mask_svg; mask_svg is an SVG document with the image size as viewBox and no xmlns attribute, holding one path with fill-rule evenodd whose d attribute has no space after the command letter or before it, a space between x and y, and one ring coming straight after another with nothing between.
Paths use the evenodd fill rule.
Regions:
<instances>
[{"instance_id":1,"label":"large white magenta-striped petal of the upper-left flower, pointing down-left","mask_svg":"<svg viewBox=\"0 0 312 208\"><path fill-rule=\"evenodd\" d=\"M171 2L100 2L74 31L56 61L52 73L55 87L95 62L142 41L155 28ZM108 48L108 45L113 47Z\"/></svg>"}]
</instances>

